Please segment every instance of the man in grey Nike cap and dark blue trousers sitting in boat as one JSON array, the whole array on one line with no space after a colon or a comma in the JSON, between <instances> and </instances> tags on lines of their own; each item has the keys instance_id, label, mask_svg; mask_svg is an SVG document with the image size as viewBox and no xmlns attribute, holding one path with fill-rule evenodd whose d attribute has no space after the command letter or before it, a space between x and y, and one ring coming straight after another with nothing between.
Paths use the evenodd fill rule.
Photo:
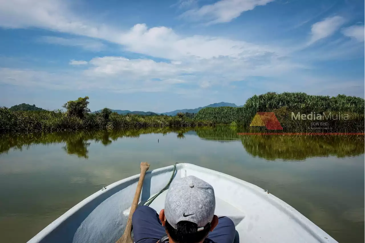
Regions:
<instances>
[{"instance_id":1,"label":"man in grey Nike cap and dark blue trousers sitting in boat","mask_svg":"<svg viewBox=\"0 0 365 243\"><path fill-rule=\"evenodd\" d=\"M213 187L195 176L173 181L160 215L148 206L132 217L135 243L233 243L235 226L214 215Z\"/></svg>"}]
</instances>

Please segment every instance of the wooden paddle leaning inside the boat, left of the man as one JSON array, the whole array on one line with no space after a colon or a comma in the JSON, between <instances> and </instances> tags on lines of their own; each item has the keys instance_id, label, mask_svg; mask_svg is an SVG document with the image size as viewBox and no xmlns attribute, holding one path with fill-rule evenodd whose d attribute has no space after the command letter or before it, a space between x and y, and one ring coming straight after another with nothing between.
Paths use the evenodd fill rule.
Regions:
<instances>
[{"instance_id":1,"label":"wooden paddle leaning inside the boat, left of the man","mask_svg":"<svg viewBox=\"0 0 365 243\"><path fill-rule=\"evenodd\" d=\"M132 231L132 215L138 206L139 196L141 196L143 180L145 179L146 171L150 168L150 164L147 162L141 162L141 174L139 175L139 181L137 184L136 193L134 194L131 211L129 212L126 229L122 237L116 241L116 243L133 243L131 231Z\"/></svg>"}]
</instances>

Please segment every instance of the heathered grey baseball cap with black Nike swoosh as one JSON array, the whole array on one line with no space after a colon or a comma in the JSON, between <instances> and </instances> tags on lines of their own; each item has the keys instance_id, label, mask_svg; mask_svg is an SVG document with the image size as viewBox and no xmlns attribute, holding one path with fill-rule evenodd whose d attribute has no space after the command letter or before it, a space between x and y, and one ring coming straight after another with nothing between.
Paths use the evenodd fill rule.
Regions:
<instances>
[{"instance_id":1,"label":"heathered grey baseball cap with black Nike swoosh","mask_svg":"<svg viewBox=\"0 0 365 243\"><path fill-rule=\"evenodd\" d=\"M207 182L190 175L171 183L165 199L165 217L174 229L178 222L189 221L201 231L212 221L214 210L214 189Z\"/></svg>"}]
</instances>

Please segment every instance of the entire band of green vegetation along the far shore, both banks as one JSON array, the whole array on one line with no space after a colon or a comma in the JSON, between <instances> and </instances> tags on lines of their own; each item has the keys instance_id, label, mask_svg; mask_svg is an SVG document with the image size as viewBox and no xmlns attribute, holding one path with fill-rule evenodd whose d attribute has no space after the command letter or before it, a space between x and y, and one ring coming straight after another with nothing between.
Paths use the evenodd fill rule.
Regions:
<instances>
[{"instance_id":1,"label":"entire band of green vegetation along the far shore, both banks","mask_svg":"<svg viewBox=\"0 0 365 243\"><path fill-rule=\"evenodd\" d=\"M71 131L79 129L140 129L146 127L195 127L226 124L230 127L245 127L250 131L267 131L265 127L249 127L257 112L274 112L283 131L291 132L364 132L365 99L338 95L314 96L306 93L273 93L254 95L243 107L207 107L198 113L178 112L176 116L120 115L104 108L90 113L89 97L68 101L61 111L23 111L0 108L0 133L34 131ZM220 105L221 103L217 104ZM23 104L22 104L23 105ZM25 104L24 104L25 105ZM35 107L35 106L31 106ZM37 108L37 107L35 107ZM35 109L34 108L34 109ZM15 109L15 108L14 108ZM17 108L18 109L18 108ZM40 108L38 108L40 109ZM348 119L329 119L331 130L311 130L313 120L292 119L292 113L336 115L348 114Z\"/></svg>"}]
</instances>

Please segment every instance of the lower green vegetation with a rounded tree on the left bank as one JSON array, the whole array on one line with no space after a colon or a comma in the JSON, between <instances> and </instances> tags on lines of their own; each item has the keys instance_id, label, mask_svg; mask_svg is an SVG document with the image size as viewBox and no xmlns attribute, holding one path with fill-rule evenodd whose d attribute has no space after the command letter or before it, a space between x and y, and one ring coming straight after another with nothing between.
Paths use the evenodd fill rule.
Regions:
<instances>
[{"instance_id":1,"label":"lower green vegetation with a rounded tree on the left bank","mask_svg":"<svg viewBox=\"0 0 365 243\"><path fill-rule=\"evenodd\" d=\"M119 115L111 109L90 113L89 97L67 102L62 111L10 111L0 108L0 133L6 132L53 132L76 130L120 130L146 127L195 127L212 126L204 120L184 116Z\"/></svg>"}]
</instances>

